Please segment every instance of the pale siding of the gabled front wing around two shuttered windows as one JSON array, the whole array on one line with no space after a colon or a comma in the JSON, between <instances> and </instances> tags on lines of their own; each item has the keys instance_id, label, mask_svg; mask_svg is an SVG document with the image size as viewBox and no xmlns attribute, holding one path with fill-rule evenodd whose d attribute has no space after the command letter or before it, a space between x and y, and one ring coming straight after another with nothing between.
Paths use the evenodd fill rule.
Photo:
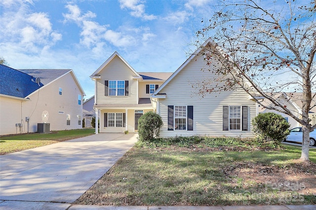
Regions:
<instances>
[{"instance_id":1,"label":"pale siding of the gabled front wing around two shuttered windows","mask_svg":"<svg viewBox=\"0 0 316 210\"><path fill-rule=\"evenodd\" d=\"M256 116L256 103L249 100L249 95L241 89L211 93L202 98L195 87L205 79L215 79L210 71L201 71L204 68L208 67L205 66L203 57L191 61L161 90L161 93L166 93L166 99L159 99L158 112L164 124L160 136L252 137L251 120ZM193 131L167 130L168 105L193 105ZM248 106L248 131L223 131L223 105Z\"/></svg>"}]
</instances>

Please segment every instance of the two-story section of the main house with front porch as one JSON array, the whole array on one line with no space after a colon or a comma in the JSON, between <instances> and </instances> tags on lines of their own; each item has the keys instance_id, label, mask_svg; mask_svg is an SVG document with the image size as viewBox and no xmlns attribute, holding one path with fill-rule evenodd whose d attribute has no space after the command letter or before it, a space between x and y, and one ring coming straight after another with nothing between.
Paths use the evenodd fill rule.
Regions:
<instances>
[{"instance_id":1,"label":"two-story section of the main house with front porch","mask_svg":"<svg viewBox=\"0 0 316 210\"><path fill-rule=\"evenodd\" d=\"M142 114L155 111L151 94L171 74L136 72L115 52L90 76L95 81L93 107L96 119L100 118L100 132L137 132Z\"/></svg>"}]
</instances>

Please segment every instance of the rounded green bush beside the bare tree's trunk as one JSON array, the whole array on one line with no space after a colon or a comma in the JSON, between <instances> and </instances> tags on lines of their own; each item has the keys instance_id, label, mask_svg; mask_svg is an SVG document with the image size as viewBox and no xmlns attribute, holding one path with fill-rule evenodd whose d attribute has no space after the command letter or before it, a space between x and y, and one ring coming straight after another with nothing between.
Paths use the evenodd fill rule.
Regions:
<instances>
[{"instance_id":1,"label":"rounded green bush beside the bare tree's trunk","mask_svg":"<svg viewBox=\"0 0 316 210\"><path fill-rule=\"evenodd\" d=\"M253 120L253 131L259 142L279 143L289 134L290 124L279 114L268 112L258 114Z\"/></svg>"}]
</instances>

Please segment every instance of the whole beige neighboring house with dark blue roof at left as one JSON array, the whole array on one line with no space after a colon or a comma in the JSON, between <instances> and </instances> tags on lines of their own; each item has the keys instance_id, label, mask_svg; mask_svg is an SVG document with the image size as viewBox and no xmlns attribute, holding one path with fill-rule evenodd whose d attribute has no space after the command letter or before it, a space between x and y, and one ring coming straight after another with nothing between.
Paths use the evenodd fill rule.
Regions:
<instances>
[{"instance_id":1,"label":"whole beige neighboring house with dark blue roof at left","mask_svg":"<svg viewBox=\"0 0 316 210\"><path fill-rule=\"evenodd\" d=\"M38 123L49 123L50 131L82 128L85 94L73 70L1 65L0 78L0 135L37 132Z\"/></svg>"}]
</instances>

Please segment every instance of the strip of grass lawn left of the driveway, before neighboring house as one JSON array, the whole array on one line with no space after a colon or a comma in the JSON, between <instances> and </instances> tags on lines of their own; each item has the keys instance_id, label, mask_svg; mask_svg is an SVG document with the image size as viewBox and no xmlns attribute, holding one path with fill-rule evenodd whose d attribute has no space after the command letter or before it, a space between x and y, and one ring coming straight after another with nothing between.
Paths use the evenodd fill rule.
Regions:
<instances>
[{"instance_id":1,"label":"strip of grass lawn left of the driveway, before neighboring house","mask_svg":"<svg viewBox=\"0 0 316 210\"><path fill-rule=\"evenodd\" d=\"M0 154L22 151L94 134L94 129L52 131L50 134L29 133L0 137Z\"/></svg>"}]
</instances>

